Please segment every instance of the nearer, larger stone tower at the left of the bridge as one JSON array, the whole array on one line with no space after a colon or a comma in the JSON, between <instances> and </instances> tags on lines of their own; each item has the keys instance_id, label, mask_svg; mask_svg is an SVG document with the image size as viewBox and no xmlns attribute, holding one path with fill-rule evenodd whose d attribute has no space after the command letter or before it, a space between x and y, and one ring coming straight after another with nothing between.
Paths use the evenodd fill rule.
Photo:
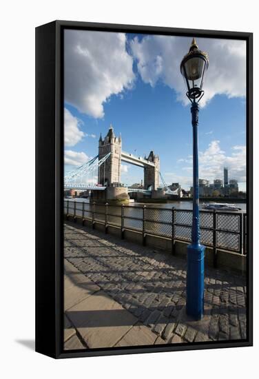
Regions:
<instances>
[{"instance_id":1,"label":"nearer, larger stone tower at the left of the bridge","mask_svg":"<svg viewBox=\"0 0 259 379\"><path fill-rule=\"evenodd\" d=\"M99 160L111 153L109 158L101 165L98 173L98 183L110 185L121 183L121 135L116 137L112 125L103 139L99 139Z\"/></svg>"}]
</instances>

